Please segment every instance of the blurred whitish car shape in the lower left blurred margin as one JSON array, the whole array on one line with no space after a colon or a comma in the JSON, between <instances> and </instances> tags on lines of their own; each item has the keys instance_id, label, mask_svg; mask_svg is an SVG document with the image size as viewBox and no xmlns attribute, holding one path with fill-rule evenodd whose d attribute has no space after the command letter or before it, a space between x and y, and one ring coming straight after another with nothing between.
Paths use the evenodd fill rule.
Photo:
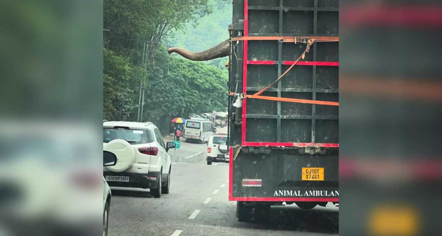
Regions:
<instances>
[{"instance_id":1,"label":"blurred whitish car shape in the lower left blurred margin","mask_svg":"<svg viewBox=\"0 0 442 236\"><path fill-rule=\"evenodd\" d=\"M0 128L0 230L3 223L12 235L102 232L94 128L73 122Z\"/></svg>"}]
</instances>

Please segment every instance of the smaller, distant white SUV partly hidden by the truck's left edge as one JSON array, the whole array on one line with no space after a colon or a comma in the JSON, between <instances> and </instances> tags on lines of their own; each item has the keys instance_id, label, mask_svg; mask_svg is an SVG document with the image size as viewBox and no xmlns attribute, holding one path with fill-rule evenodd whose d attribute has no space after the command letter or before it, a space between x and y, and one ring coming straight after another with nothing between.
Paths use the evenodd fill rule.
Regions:
<instances>
[{"instance_id":1,"label":"smaller, distant white SUV partly hidden by the truck's left edge","mask_svg":"<svg viewBox=\"0 0 442 236\"><path fill-rule=\"evenodd\" d=\"M207 142L207 165L212 162L229 163L229 150L227 149L227 134L210 134Z\"/></svg>"}]
</instances>

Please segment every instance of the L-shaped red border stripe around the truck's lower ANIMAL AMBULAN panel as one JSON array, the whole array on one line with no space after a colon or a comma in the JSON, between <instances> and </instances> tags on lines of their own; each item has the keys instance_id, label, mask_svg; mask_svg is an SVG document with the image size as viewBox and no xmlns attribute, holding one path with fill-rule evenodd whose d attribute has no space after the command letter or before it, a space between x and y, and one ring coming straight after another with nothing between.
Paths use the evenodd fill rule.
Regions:
<instances>
[{"instance_id":1,"label":"L-shaped red border stripe around the truck's lower ANIMAL AMBULAN panel","mask_svg":"<svg viewBox=\"0 0 442 236\"><path fill-rule=\"evenodd\" d=\"M338 198L320 197L233 197L233 147L229 148L229 201L332 201L339 202Z\"/></svg>"}]
</instances>

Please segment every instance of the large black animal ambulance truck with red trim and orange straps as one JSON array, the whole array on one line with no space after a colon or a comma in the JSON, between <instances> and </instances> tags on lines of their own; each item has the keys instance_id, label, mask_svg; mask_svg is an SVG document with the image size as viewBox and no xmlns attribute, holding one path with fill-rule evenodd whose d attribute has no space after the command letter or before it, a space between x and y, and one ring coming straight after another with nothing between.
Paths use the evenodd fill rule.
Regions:
<instances>
[{"instance_id":1,"label":"large black animal ambulance truck with red trim and orange straps","mask_svg":"<svg viewBox=\"0 0 442 236\"><path fill-rule=\"evenodd\" d=\"M229 201L339 205L339 0L233 0Z\"/></svg>"}]
</instances>

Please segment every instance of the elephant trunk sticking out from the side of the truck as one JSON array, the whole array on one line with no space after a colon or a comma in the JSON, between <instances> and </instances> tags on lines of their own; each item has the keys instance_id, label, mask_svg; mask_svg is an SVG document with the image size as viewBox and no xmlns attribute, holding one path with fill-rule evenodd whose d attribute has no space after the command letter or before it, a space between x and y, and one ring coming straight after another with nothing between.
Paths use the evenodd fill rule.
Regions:
<instances>
[{"instance_id":1,"label":"elephant trunk sticking out from the side of the truck","mask_svg":"<svg viewBox=\"0 0 442 236\"><path fill-rule=\"evenodd\" d=\"M179 47L171 47L167 50L168 54L176 52L192 61L208 61L215 58L222 58L229 55L230 41L229 39L201 52L190 52Z\"/></svg>"}]
</instances>

